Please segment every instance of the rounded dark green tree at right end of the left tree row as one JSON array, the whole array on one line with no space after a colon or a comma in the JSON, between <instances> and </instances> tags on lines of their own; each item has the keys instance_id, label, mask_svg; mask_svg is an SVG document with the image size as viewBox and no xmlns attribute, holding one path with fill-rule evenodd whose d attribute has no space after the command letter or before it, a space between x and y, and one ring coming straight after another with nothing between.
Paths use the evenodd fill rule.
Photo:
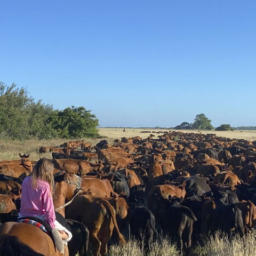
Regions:
<instances>
[{"instance_id":1,"label":"rounded dark green tree at right end of the left tree row","mask_svg":"<svg viewBox=\"0 0 256 256\"><path fill-rule=\"evenodd\" d=\"M98 134L99 120L84 107L71 106L53 117L53 127L61 138L93 138Z\"/></svg>"}]
</instances>

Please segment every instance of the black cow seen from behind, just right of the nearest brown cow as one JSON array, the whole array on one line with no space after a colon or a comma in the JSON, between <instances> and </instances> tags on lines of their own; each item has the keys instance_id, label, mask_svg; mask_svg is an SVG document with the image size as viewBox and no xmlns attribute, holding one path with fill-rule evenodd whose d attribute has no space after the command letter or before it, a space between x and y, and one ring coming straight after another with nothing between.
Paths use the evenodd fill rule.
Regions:
<instances>
[{"instance_id":1,"label":"black cow seen from behind, just right of the nearest brown cow","mask_svg":"<svg viewBox=\"0 0 256 256\"><path fill-rule=\"evenodd\" d=\"M154 233L157 236L153 213L145 206L135 207L130 218L130 229L131 233L139 239L141 249L143 249L143 238L145 237L145 249L148 251Z\"/></svg>"}]
</instances>

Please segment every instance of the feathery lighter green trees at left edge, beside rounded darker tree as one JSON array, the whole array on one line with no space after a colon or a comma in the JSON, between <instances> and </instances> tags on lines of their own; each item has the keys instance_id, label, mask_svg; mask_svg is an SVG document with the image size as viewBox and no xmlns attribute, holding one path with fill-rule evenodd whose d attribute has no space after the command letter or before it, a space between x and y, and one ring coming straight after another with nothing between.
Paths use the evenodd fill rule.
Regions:
<instances>
[{"instance_id":1,"label":"feathery lighter green trees at left edge, beside rounded darker tree","mask_svg":"<svg viewBox=\"0 0 256 256\"><path fill-rule=\"evenodd\" d=\"M49 125L49 117L57 115L50 105L35 100L24 87L0 83L0 133L12 139L38 137L51 139L57 135Z\"/></svg>"}]
</instances>

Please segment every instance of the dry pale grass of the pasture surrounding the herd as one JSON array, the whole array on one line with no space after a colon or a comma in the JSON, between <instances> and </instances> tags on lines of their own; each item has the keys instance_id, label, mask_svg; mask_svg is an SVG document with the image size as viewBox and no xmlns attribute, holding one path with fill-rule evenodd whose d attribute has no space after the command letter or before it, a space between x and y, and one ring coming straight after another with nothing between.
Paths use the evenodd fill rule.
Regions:
<instances>
[{"instance_id":1,"label":"dry pale grass of the pasture surrounding the herd","mask_svg":"<svg viewBox=\"0 0 256 256\"><path fill-rule=\"evenodd\" d=\"M113 144L115 139L121 139L122 137L131 138L135 136L140 136L142 139L147 138L150 133L141 133L141 131L150 131L155 135L157 139L158 135L163 135L164 131L159 129L123 129L118 128L100 128L99 133L102 137L108 138L97 138L97 139L84 139L84 142L89 142L94 146L100 140L106 139L110 145ZM155 133L160 131L161 133ZM198 132L191 130L182 130L182 132ZM256 140L256 131L200 131L202 134L214 133L218 137L226 137L230 139L246 139L254 141ZM83 138L81 138L83 139ZM32 161L38 161L39 158L47 157L52 158L51 153L39 154L39 146L59 146L65 139L53 139L53 140L37 140L31 139L27 141L12 141L12 140L2 140L0 141L0 160L13 160L19 159L18 154L30 154L29 159ZM128 242L123 246L110 245L108 254L109 256L143 256L143 252L140 250L138 242L133 240L132 235L127 231L126 239ZM217 233L215 237L210 236L208 238L201 237L199 241L193 246L190 255L192 256L242 256L242 255L255 255L256 254L256 233L252 231L246 234L244 239L239 236L234 236L231 241L226 235ZM90 254L89 254L90 255ZM170 242L167 237L159 236L157 241L151 244L151 251L148 254L150 256L178 256L180 255L179 250L175 244Z\"/></svg>"}]
</instances>

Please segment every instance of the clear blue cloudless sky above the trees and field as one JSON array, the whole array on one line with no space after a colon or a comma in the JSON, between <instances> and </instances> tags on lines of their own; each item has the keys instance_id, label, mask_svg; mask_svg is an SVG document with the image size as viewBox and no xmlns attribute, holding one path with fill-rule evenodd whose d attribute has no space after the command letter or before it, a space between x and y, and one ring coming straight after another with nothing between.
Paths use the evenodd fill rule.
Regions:
<instances>
[{"instance_id":1,"label":"clear blue cloudless sky above the trees and field","mask_svg":"<svg viewBox=\"0 0 256 256\"><path fill-rule=\"evenodd\" d=\"M101 126L256 125L255 0L2 0L0 81Z\"/></svg>"}]
</instances>

